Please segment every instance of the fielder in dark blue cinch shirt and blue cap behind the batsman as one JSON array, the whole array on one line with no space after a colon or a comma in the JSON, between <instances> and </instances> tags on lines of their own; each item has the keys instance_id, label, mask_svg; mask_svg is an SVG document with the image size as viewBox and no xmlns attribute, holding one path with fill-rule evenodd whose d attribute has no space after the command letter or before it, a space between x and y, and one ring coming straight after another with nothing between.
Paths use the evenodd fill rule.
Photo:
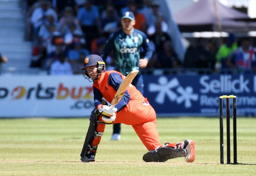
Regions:
<instances>
[{"instance_id":1,"label":"fielder in dark blue cinch shirt and blue cap behind the batsman","mask_svg":"<svg viewBox=\"0 0 256 176\"><path fill-rule=\"evenodd\" d=\"M135 18L132 12L124 12L122 17L123 28L111 34L101 55L105 61L107 56L114 50L115 70L128 75L132 70L146 68L148 60L152 57L152 49L149 40L143 32L134 29ZM140 58L141 51L145 56ZM143 94L143 77L139 74L133 79L134 85ZM121 124L113 125L113 135L111 140L119 140Z\"/></svg>"}]
</instances>

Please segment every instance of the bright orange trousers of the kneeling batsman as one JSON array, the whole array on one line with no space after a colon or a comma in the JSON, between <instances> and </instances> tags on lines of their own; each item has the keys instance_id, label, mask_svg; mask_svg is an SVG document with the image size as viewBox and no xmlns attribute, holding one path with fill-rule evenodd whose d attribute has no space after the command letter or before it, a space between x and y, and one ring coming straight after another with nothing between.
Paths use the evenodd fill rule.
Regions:
<instances>
[{"instance_id":1,"label":"bright orange trousers of the kneeling batsman","mask_svg":"<svg viewBox=\"0 0 256 176\"><path fill-rule=\"evenodd\" d=\"M148 151L154 150L162 145L160 143L156 126L156 112L148 103L147 99L145 99L145 102L130 100L126 107L116 114L116 120L114 123L132 125ZM98 124L96 131L104 132L104 129L105 124ZM98 146L100 139L101 137L94 138L92 146ZM175 143L169 144L169 146L173 148L175 148L175 145Z\"/></svg>"}]
</instances>

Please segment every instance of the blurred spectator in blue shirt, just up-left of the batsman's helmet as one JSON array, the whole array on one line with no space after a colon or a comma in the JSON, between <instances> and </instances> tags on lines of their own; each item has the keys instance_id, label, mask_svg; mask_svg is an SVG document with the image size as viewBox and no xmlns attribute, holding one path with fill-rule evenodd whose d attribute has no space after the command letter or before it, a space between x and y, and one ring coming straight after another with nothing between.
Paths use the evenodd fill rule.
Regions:
<instances>
[{"instance_id":1,"label":"blurred spectator in blue shirt, just up-left of the batsman's helmet","mask_svg":"<svg viewBox=\"0 0 256 176\"><path fill-rule=\"evenodd\" d=\"M83 49L80 42L74 43L74 49L68 52L68 60L70 60L71 64L77 62L80 57L80 53L84 53L88 56L90 53L87 49Z\"/></svg>"}]
</instances>

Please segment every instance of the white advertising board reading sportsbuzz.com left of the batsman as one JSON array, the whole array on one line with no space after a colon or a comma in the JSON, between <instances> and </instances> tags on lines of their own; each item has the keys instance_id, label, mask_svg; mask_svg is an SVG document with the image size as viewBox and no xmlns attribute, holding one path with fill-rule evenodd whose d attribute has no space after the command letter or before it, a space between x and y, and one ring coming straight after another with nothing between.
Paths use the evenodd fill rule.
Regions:
<instances>
[{"instance_id":1,"label":"white advertising board reading sportsbuzz.com left of the batsman","mask_svg":"<svg viewBox=\"0 0 256 176\"><path fill-rule=\"evenodd\" d=\"M0 76L0 117L90 116L93 108L83 76Z\"/></svg>"}]
</instances>

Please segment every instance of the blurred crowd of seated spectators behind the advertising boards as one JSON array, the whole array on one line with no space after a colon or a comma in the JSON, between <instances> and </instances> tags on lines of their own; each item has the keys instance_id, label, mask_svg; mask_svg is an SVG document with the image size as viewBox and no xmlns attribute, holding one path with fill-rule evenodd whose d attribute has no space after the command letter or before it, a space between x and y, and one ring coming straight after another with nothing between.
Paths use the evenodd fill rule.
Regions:
<instances>
[{"instance_id":1,"label":"blurred crowd of seated spectators behind the advertising boards","mask_svg":"<svg viewBox=\"0 0 256 176\"><path fill-rule=\"evenodd\" d=\"M26 38L33 41L30 67L47 70L51 75L80 74L84 57L101 55L108 36L122 27L121 14L126 11L133 12L134 28L148 36L154 50L147 68L256 72L256 50L250 39L242 38L237 44L234 34L229 34L220 48L212 39L198 39L180 60L154 0L27 0L27 4ZM106 62L111 66L111 57Z\"/></svg>"}]
</instances>

